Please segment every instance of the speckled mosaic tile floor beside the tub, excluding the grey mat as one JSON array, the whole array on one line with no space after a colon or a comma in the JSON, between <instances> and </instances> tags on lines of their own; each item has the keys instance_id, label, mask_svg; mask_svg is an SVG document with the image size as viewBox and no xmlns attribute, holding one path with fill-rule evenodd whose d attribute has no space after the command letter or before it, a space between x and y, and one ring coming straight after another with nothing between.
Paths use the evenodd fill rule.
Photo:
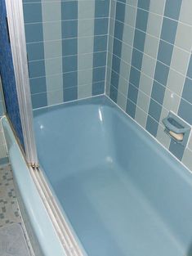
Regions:
<instances>
[{"instance_id":1,"label":"speckled mosaic tile floor beside the tub, excluding the grey mat","mask_svg":"<svg viewBox=\"0 0 192 256\"><path fill-rule=\"evenodd\" d=\"M25 240L29 247L30 255L32 256L33 253L30 249L29 238L25 231L24 223L20 217L20 209L16 199L11 165L5 164L0 165L0 233L2 230L5 230L5 227L10 229L13 224L21 225Z\"/></svg>"}]
</instances>

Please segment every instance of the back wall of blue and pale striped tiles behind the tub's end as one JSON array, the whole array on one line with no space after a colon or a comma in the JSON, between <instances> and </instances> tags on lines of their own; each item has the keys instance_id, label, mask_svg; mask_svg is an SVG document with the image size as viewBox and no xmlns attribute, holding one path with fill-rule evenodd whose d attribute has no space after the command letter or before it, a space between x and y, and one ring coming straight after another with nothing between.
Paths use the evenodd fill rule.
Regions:
<instances>
[{"instance_id":1,"label":"back wall of blue and pale striped tiles behind the tub's end","mask_svg":"<svg viewBox=\"0 0 192 256\"><path fill-rule=\"evenodd\" d=\"M33 108L104 93L109 0L23 0Z\"/></svg>"}]
</instances>

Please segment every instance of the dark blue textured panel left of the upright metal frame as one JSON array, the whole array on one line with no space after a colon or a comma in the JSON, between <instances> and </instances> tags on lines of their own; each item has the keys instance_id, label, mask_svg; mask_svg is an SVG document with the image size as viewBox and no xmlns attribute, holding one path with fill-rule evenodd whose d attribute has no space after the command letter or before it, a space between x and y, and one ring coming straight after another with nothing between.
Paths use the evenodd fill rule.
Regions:
<instances>
[{"instance_id":1,"label":"dark blue textured panel left of the upright metal frame","mask_svg":"<svg viewBox=\"0 0 192 256\"><path fill-rule=\"evenodd\" d=\"M4 0L0 0L0 73L2 88L5 97L7 115L15 128L17 137L24 147L24 138L20 123L20 110L16 94L16 80L12 64L11 46L7 35L6 6Z\"/></svg>"}]
</instances>

